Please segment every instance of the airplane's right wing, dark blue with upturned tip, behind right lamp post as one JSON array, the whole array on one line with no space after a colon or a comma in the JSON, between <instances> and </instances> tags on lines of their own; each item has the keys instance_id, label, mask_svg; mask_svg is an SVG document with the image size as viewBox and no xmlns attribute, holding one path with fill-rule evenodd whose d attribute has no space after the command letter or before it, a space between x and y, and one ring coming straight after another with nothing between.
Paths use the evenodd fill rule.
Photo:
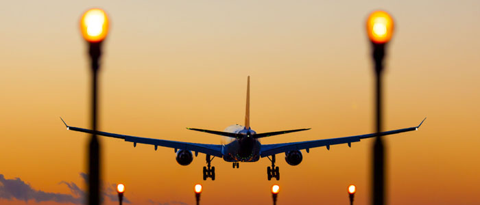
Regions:
<instances>
[{"instance_id":1,"label":"airplane's right wing, dark blue with upturned tip, behind right lamp post","mask_svg":"<svg viewBox=\"0 0 480 205\"><path fill-rule=\"evenodd\" d=\"M425 119L423 119L418 126L398 129L394 131L381 132L379 135L384 136L384 135L393 135L397 133L405 133L409 131L416 131L422 125ZM330 150L331 145L348 143L348 146L350 146L352 142L356 142L356 141L360 141L361 139L376 137L376 136L377 136L376 133L372 133L367 135L356 135L356 136L339 137L339 138L332 138L332 139L318 139L318 140L312 140L312 141L298 141L298 142L291 142L291 143L265 144L265 145L262 145L260 148L260 152L261 152L260 155L261 157L265 157L265 156L271 156L273 154L278 154L281 152L288 152L291 150L307 150L308 152L310 148L317 148L322 146L326 146L326 148Z\"/></svg>"}]
</instances>

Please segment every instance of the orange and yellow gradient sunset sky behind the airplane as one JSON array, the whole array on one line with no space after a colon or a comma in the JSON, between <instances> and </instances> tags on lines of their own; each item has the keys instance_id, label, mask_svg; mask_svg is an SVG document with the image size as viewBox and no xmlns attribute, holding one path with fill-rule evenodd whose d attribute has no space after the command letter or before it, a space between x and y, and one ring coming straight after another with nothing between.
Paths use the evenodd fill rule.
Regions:
<instances>
[{"instance_id":1,"label":"orange and yellow gradient sunset sky behind the airplane","mask_svg":"<svg viewBox=\"0 0 480 205\"><path fill-rule=\"evenodd\" d=\"M389 204L479 204L480 1L9 1L0 7L0 174L34 190L73 194L86 170L88 57L78 29L92 7L111 29L101 67L99 128L141 137L220 143L185 127L222 131L242 124L251 76L256 132L311 131L262 143L371 133L373 78L365 18L385 9L396 20L385 70ZM372 139L312 149L291 167L278 155L278 204L370 202ZM187 167L171 148L101 139L103 179L123 182L133 204L269 204L267 159L215 159ZM2 184L0 184L0 187ZM111 191L111 190L110 190ZM115 204L107 200L106 204ZM1 198L0 204L25 204ZM56 202L27 204L67 204ZM177 203L180 204L180 203Z\"/></svg>"}]
</instances>

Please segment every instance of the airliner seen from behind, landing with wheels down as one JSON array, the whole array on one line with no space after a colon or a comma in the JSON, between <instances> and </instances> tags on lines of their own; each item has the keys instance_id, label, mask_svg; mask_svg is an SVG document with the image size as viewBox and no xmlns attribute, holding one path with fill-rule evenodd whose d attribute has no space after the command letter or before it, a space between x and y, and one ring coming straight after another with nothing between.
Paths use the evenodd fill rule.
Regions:
<instances>
[{"instance_id":1,"label":"airliner seen from behind, landing with wheels down","mask_svg":"<svg viewBox=\"0 0 480 205\"><path fill-rule=\"evenodd\" d=\"M101 131L92 131L86 128L78 128L74 126L68 126L62 118L62 122L67 126L67 130L78 131L82 133L95 133L97 135L105 137L114 137L123 139L133 143L136 147L136 143L144 143L153 145L155 150L158 146L167 148L173 148L176 152L176 161L180 165L189 165L193 161L192 151L195 152L195 156L198 152L206 154L206 166L203 167L203 179L211 178L215 180L215 167L211 166L211 162L215 157L223 158L224 161L232 163L232 167L239 168L239 162L256 162L259 159L267 157L272 162L271 167L267 167L267 179L280 180L280 171L276 163L276 154L285 153L285 161L289 165L296 166L302 162L303 156L301 150L305 150L309 153L311 148L317 148L325 146L327 150L330 150L330 146L346 143L348 147L351 147L351 143L360 141L361 139L367 139L370 137L393 135L397 133L404 133L409 131L417 131L422 125L424 120L420 122L418 126L410 128L401 128L398 130L385 131L381 133L371 133L366 135L355 135L350 137L339 137L331 139L317 139L312 141L297 141L291 143L274 143L274 144L261 144L259 139L263 137L271 137L274 135L283 135L287 133L294 133L299 131L307 131L310 128L300 128L296 130L288 131L276 131L269 133L256 133L250 127L250 76L247 80L247 102L245 108L245 126L239 124L228 126L223 132L210 131L199 128L187 128L191 131L200 131L213 135L221 135L229 139L226 144L205 144L205 143L190 143L183 141L170 141L165 139L153 139L145 137L134 137L130 135L119 135L115 133L106 133Z\"/></svg>"}]
</instances>

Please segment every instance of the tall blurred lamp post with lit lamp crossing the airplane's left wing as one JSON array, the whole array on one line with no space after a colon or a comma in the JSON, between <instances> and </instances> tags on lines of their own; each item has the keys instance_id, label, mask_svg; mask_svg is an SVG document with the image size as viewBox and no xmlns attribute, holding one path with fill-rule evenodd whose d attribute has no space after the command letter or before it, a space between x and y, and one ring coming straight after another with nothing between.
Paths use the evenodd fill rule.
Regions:
<instances>
[{"instance_id":1,"label":"tall blurred lamp post with lit lamp crossing the airplane's left wing","mask_svg":"<svg viewBox=\"0 0 480 205\"><path fill-rule=\"evenodd\" d=\"M108 18L104 10L91 9L86 11L80 19L80 31L88 43L88 54L91 57L92 72L92 130L94 133L88 143L88 204L100 203L100 144L95 131L97 131L97 74L99 70L99 58L101 55L101 43L108 33Z\"/></svg>"}]
</instances>

